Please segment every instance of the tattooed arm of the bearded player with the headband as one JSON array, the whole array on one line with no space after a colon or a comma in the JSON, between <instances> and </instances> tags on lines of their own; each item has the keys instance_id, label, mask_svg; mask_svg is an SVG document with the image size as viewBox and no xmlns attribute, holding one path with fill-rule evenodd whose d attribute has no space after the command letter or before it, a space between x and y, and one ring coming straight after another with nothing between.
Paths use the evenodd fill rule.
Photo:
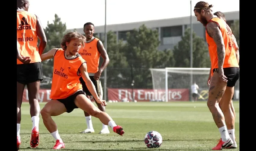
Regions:
<instances>
[{"instance_id":1,"label":"tattooed arm of the bearded player with the headband","mask_svg":"<svg viewBox=\"0 0 256 151\"><path fill-rule=\"evenodd\" d=\"M217 23L209 22L206 26L207 33L210 37L214 39L217 45L217 56L218 56L218 67L223 68L223 63L225 59L225 44L223 41L222 33Z\"/></svg>"}]
</instances>

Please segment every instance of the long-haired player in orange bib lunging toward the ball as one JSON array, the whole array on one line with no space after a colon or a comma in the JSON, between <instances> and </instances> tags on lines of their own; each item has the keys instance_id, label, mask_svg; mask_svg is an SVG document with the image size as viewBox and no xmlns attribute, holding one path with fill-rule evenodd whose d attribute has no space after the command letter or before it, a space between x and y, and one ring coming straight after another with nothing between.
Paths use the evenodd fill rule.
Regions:
<instances>
[{"instance_id":1,"label":"long-haired player in orange bib lunging toward the ball","mask_svg":"<svg viewBox=\"0 0 256 151\"><path fill-rule=\"evenodd\" d=\"M84 46L86 38L77 33L69 32L61 40L63 49L54 48L47 53L42 54L41 59L47 60L54 58L52 88L50 98L41 111L42 119L47 130L56 140L53 149L65 148L57 129L57 125L52 120L52 116L58 116L64 112L70 113L75 108L80 108L90 115L99 118L99 120L110 126L115 133L123 135L121 126L115 124L112 118L105 112L100 111L86 97L79 78L82 76L92 96L98 104L106 106L105 100L97 95L97 91L87 72L86 61L78 53Z\"/></svg>"}]
</instances>

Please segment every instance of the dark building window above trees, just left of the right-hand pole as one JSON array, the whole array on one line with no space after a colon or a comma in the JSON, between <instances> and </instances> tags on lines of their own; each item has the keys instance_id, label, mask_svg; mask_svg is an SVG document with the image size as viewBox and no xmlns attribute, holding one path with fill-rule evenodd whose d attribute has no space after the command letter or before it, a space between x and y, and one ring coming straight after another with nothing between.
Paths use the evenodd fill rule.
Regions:
<instances>
[{"instance_id":1,"label":"dark building window above trees, just left of the right-hand pole","mask_svg":"<svg viewBox=\"0 0 256 151\"><path fill-rule=\"evenodd\" d=\"M176 37L182 36L182 25L172 27L162 27L163 37Z\"/></svg>"}]
</instances>

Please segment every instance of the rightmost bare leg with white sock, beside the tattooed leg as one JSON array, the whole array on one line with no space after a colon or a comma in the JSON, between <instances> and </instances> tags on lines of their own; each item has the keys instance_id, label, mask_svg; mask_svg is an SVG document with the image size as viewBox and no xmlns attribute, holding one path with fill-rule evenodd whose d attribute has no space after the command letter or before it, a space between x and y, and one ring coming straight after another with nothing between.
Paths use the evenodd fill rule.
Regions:
<instances>
[{"instance_id":1,"label":"rightmost bare leg with white sock, beside the tattooed leg","mask_svg":"<svg viewBox=\"0 0 256 151\"><path fill-rule=\"evenodd\" d=\"M226 87L226 91L221 98L221 108L225 117L229 137L233 140L233 144L229 148L236 148L235 141L235 116L233 114L231 103L234 95L234 87Z\"/></svg>"}]
</instances>

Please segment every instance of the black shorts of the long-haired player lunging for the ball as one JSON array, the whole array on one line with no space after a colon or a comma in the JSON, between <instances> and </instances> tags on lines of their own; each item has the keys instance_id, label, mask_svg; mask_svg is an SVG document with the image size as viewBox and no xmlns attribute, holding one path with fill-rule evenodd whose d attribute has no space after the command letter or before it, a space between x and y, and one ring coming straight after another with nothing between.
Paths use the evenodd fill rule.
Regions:
<instances>
[{"instance_id":1,"label":"black shorts of the long-haired player lunging for the ball","mask_svg":"<svg viewBox=\"0 0 256 151\"><path fill-rule=\"evenodd\" d=\"M76 99L77 95L80 95L80 94L85 95L85 92L84 91L77 91L76 93L74 93L73 95L70 95L67 98L57 99L57 100L60 101L61 103L63 103L65 105L65 108L67 109L67 113L70 113L75 108L78 108L75 104L75 99Z\"/></svg>"}]
</instances>

